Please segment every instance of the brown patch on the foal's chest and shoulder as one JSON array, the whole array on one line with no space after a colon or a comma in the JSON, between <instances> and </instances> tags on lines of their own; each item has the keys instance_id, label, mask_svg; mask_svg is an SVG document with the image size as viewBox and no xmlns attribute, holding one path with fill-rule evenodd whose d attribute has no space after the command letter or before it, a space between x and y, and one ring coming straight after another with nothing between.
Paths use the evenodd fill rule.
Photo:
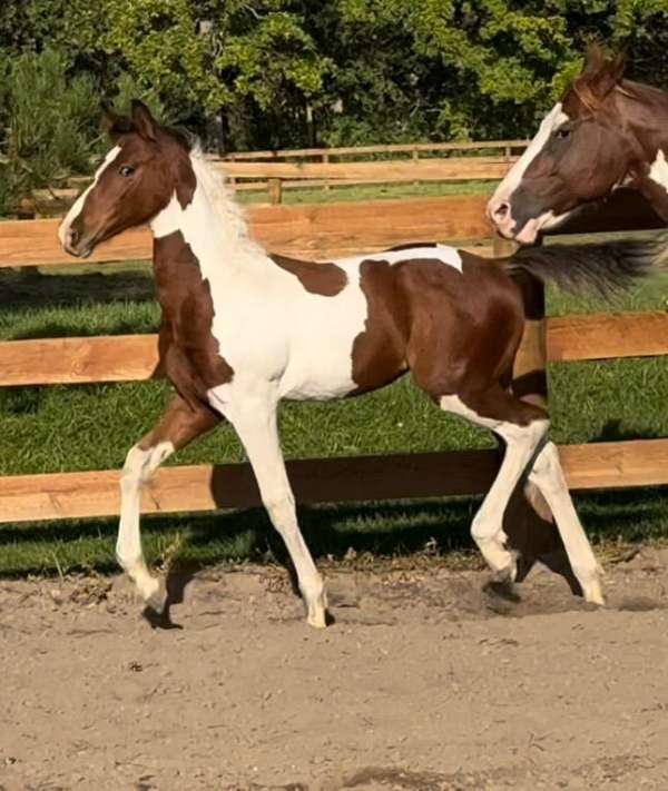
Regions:
<instances>
[{"instance_id":1,"label":"brown patch on the foal's chest and shoulder","mask_svg":"<svg viewBox=\"0 0 668 791\"><path fill-rule=\"evenodd\" d=\"M163 308L160 362L179 395L191 406L207 392L232 382L234 370L212 334L214 304L208 280L180 230L154 240L154 271Z\"/></svg>"}]
</instances>

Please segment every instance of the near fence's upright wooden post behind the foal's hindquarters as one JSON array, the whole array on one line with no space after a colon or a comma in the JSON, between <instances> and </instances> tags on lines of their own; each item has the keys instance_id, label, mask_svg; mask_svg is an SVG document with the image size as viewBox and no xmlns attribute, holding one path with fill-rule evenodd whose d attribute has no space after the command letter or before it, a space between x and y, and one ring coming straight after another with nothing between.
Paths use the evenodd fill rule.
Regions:
<instances>
[{"instance_id":1,"label":"near fence's upright wooden post behind the foal's hindquarters","mask_svg":"<svg viewBox=\"0 0 668 791\"><path fill-rule=\"evenodd\" d=\"M494 256L512 255L514 241L494 237ZM517 396L543 408L548 406L546 296L542 283L527 276L522 283L527 320L513 367L512 388ZM518 486L505 511L503 528L522 563L518 579L529 572L539 557L550 557L550 566L569 576L570 566L550 508L533 484Z\"/></svg>"}]
</instances>

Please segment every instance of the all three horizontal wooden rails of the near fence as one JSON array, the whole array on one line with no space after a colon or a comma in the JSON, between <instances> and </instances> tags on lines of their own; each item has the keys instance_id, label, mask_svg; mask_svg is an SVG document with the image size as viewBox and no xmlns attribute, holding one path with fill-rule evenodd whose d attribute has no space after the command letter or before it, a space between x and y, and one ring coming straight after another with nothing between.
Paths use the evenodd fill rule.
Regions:
<instances>
[{"instance_id":1,"label":"all three horizontal wooden rails of the near fence","mask_svg":"<svg viewBox=\"0 0 668 791\"><path fill-rule=\"evenodd\" d=\"M656 216L629 208L620 191L605 215L584 214L564 230L660 227ZM328 259L426 239L488 238L484 199L256 207L253 233L272 250ZM0 224L0 266L76 264L59 248L56 220ZM134 230L96 250L88 261L150 257L145 230ZM600 314L550 318L524 350L529 370L551 360L605 359L668 354L668 314ZM536 329L536 327L534 327ZM547 348L542 338L547 337ZM538 357L538 360L537 360ZM160 376L156 337L110 336L0 343L0 385L130 382ZM668 439L593 443L561 448L567 477L577 490L668 484ZM304 503L429 497L485 491L493 452L420 453L381 457L295 461L288 472ZM146 512L195 512L259 503L247 465L196 465L158 471L143 501ZM0 477L0 521L108 516L118 513L118 472L53 473Z\"/></svg>"}]
</instances>

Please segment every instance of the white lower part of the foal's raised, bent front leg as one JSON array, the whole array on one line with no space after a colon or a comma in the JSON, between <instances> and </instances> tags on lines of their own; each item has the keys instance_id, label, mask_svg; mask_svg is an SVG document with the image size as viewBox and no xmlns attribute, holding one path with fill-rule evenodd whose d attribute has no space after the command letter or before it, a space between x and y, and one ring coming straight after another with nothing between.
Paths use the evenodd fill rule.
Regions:
<instances>
[{"instance_id":1,"label":"white lower part of the foal's raised, bent front leg","mask_svg":"<svg viewBox=\"0 0 668 791\"><path fill-rule=\"evenodd\" d=\"M120 524L116 542L116 557L137 585L144 601L148 601L157 594L159 583L149 574L141 550L139 532L141 485L173 453L174 445L170 442L158 443L146 451L135 445L126 457L120 476Z\"/></svg>"}]
</instances>

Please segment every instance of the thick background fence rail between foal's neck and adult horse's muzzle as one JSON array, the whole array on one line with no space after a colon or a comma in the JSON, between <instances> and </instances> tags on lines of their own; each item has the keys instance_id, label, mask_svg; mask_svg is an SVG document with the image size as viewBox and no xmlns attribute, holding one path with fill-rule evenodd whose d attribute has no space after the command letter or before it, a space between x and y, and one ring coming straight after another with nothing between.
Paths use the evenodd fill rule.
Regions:
<instances>
[{"instance_id":1,"label":"thick background fence rail between foal's neck and adult horse's muzzle","mask_svg":"<svg viewBox=\"0 0 668 791\"><path fill-rule=\"evenodd\" d=\"M217 162L228 177L256 179L345 179L376 181L464 181L500 179L509 162L504 157L454 157L418 161L376 162Z\"/></svg>"}]
</instances>

